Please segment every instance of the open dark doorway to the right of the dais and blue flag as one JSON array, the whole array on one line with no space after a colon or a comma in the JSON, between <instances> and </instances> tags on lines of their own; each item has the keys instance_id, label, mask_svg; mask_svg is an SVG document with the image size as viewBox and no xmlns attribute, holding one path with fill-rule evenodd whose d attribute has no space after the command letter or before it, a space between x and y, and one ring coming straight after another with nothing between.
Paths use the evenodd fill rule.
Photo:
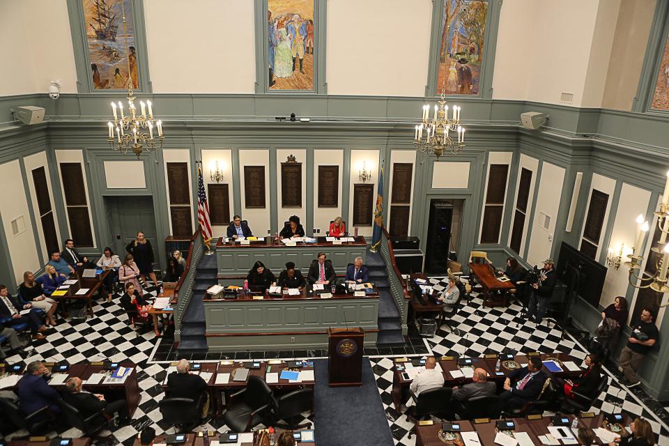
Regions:
<instances>
[{"instance_id":1,"label":"open dark doorway to the right of the dais and blue flag","mask_svg":"<svg viewBox=\"0 0 669 446\"><path fill-rule=\"evenodd\" d=\"M463 203L463 199L430 201L425 249L426 274L447 274L449 253L457 249L460 241Z\"/></svg>"}]
</instances>

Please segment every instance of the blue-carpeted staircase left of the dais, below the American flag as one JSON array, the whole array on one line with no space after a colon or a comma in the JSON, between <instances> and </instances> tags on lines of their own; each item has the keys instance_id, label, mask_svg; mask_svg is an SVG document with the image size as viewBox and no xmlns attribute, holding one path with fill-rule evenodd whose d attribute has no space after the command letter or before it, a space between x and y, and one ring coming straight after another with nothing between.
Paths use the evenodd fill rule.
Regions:
<instances>
[{"instance_id":1,"label":"blue-carpeted staircase left of the dais, below the American flag","mask_svg":"<svg viewBox=\"0 0 669 446\"><path fill-rule=\"evenodd\" d=\"M207 351L207 339L204 336L207 325L202 300L207 289L218 283L217 271L216 256L202 256L195 268L193 295L181 320L179 350Z\"/></svg>"}]
</instances>

